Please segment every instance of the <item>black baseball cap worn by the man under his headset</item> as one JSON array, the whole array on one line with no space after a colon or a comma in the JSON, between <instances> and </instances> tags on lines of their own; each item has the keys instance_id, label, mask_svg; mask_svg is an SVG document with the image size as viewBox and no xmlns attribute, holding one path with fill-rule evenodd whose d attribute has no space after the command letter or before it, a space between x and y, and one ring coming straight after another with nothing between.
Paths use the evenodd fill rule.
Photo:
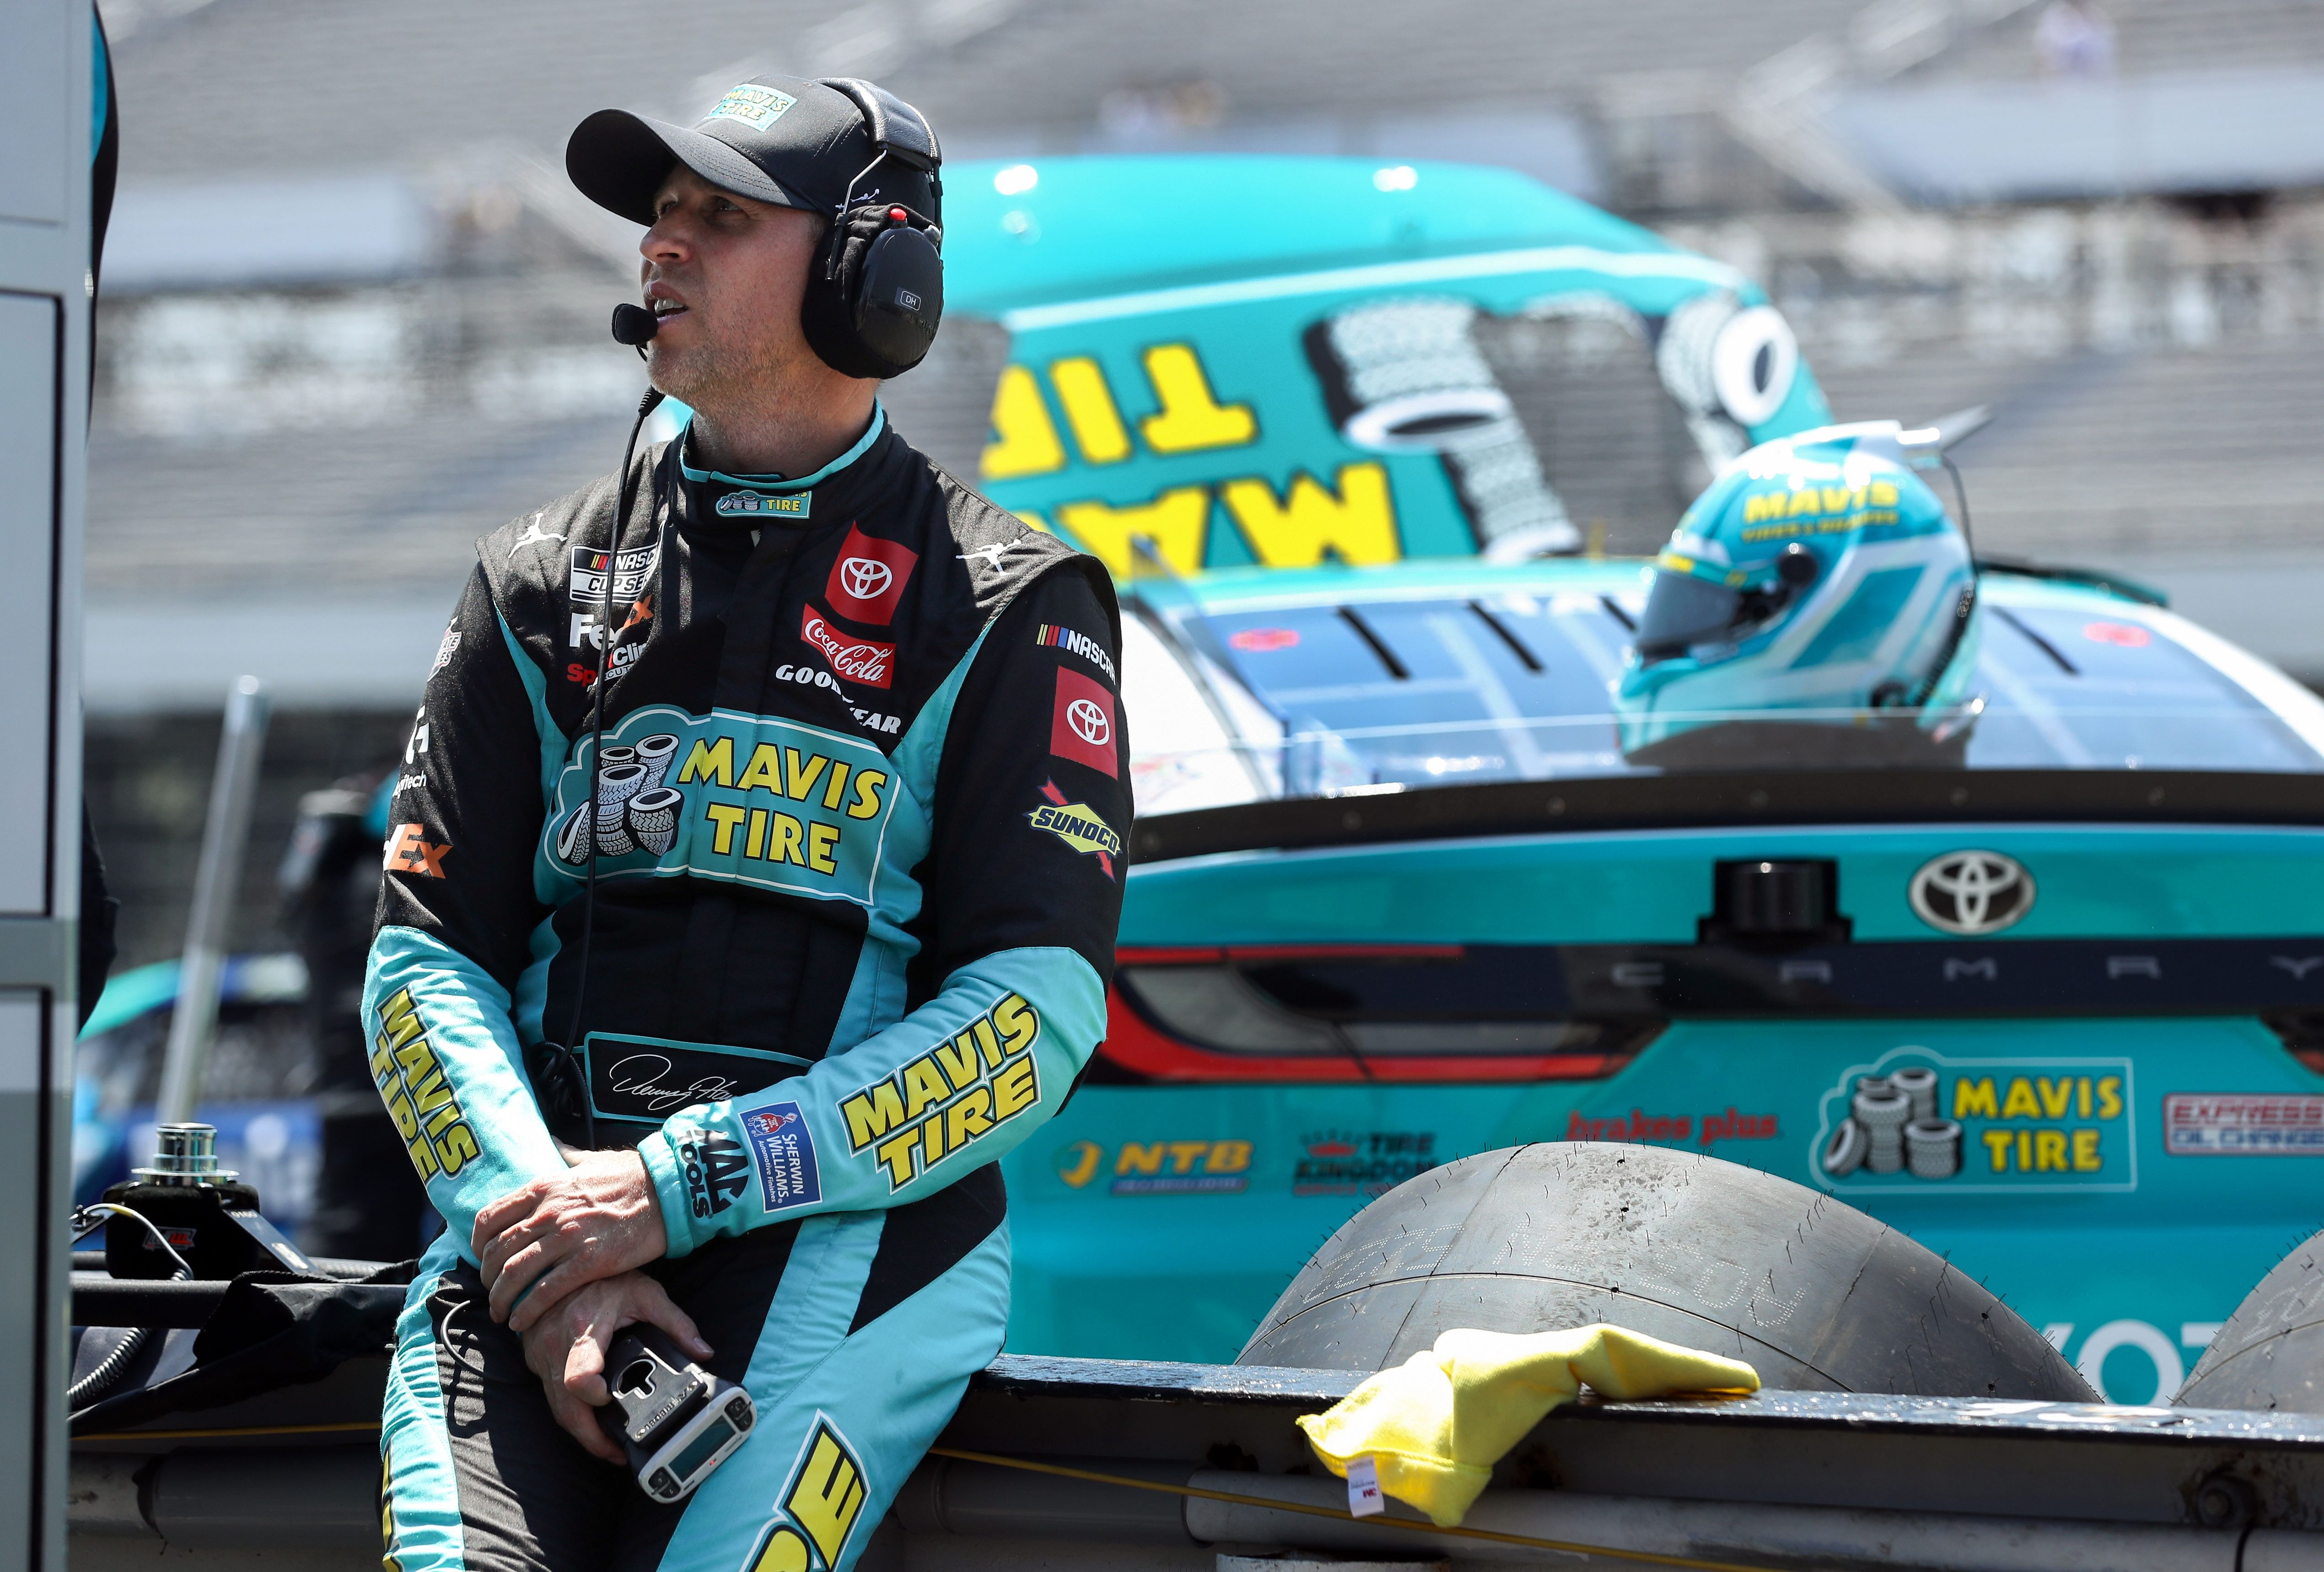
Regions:
<instances>
[{"instance_id":1,"label":"black baseball cap worn by the man under his headset","mask_svg":"<svg viewBox=\"0 0 2324 1572\"><path fill-rule=\"evenodd\" d=\"M753 77L727 88L693 130L600 109L565 142L565 174L590 202L632 223L653 223L653 193L674 163L723 191L825 216L839 212L848 181L862 174L858 202L899 202L939 219L930 170L883 158L865 172L874 153L865 109L848 93L804 77Z\"/></svg>"}]
</instances>

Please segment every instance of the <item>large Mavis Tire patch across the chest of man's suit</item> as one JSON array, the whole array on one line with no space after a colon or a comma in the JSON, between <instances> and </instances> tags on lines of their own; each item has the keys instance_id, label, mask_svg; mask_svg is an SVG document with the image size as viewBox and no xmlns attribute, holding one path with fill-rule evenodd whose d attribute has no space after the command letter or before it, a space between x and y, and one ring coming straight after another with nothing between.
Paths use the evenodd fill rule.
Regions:
<instances>
[{"instance_id":1,"label":"large Mavis Tire patch across the chest of man's suit","mask_svg":"<svg viewBox=\"0 0 2324 1572\"><path fill-rule=\"evenodd\" d=\"M590 791L588 737L558 774L541 833L548 877L725 879L869 907L895 819L895 770L876 744L713 709L653 705L607 735Z\"/></svg>"}]
</instances>

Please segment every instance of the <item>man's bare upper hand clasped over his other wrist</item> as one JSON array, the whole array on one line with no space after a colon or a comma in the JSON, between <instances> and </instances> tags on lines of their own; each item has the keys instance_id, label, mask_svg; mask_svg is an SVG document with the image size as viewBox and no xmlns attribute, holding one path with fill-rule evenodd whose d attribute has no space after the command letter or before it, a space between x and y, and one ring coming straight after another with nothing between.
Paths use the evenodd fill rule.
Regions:
<instances>
[{"instance_id":1,"label":"man's bare upper hand clasped over his other wrist","mask_svg":"<svg viewBox=\"0 0 2324 1572\"><path fill-rule=\"evenodd\" d=\"M535 1179L479 1212L469 1246L490 1288L493 1321L523 1332L583 1284L658 1260L667 1235L646 1160L590 1151L558 1179Z\"/></svg>"}]
</instances>

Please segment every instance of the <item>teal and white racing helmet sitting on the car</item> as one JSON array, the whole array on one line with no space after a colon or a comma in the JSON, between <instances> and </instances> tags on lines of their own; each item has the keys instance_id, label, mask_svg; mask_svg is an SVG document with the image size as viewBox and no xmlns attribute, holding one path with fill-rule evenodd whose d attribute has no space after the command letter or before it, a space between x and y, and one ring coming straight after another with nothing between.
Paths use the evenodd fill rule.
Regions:
<instances>
[{"instance_id":1,"label":"teal and white racing helmet sitting on the car","mask_svg":"<svg viewBox=\"0 0 2324 1572\"><path fill-rule=\"evenodd\" d=\"M1822 426L1750 449L1694 500L1615 688L1634 763L1959 763L1975 567L1913 474L1927 437Z\"/></svg>"}]
</instances>

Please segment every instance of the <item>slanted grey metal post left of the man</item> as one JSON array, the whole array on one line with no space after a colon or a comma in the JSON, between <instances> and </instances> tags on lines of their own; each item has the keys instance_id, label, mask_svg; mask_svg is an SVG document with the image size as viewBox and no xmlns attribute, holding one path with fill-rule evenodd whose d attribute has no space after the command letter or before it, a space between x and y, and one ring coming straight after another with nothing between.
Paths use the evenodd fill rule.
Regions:
<instances>
[{"instance_id":1,"label":"slanted grey metal post left of the man","mask_svg":"<svg viewBox=\"0 0 2324 1572\"><path fill-rule=\"evenodd\" d=\"M186 956L177 970L177 1012L170 1016L170 1049L160 1065L156 1119L165 1126L193 1119L193 1105L202 1095L209 1039L218 1028L218 984L235 923L235 891L242 888L242 851L251 839L251 807L258 798L258 758L265 746L267 688L256 677L242 677L225 698L218 772L209 784L209 823L202 826L202 863L193 874Z\"/></svg>"}]
</instances>

